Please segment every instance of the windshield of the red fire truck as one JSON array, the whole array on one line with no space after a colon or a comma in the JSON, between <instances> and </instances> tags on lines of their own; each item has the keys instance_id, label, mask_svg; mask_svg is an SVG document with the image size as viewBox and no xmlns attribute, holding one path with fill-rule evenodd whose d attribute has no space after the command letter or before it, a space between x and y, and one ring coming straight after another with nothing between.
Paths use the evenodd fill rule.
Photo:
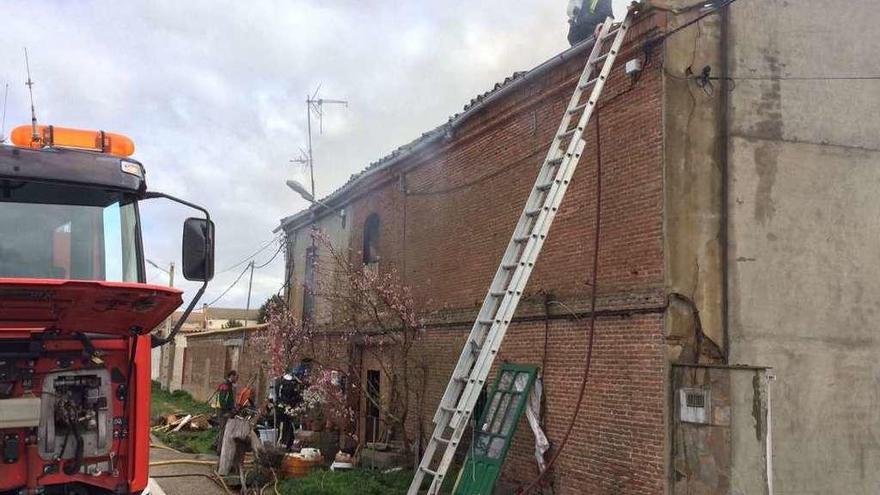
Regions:
<instances>
[{"instance_id":1,"label":"windshield of the red fire truck","mask_svg":"<svg viewBox=\"0 0 880 495\"><path fill-rule=\"evenodd\" d=\"M137 229L127 194L0 180L0 277L137 282Z\"/></svg>"}]
</instances>

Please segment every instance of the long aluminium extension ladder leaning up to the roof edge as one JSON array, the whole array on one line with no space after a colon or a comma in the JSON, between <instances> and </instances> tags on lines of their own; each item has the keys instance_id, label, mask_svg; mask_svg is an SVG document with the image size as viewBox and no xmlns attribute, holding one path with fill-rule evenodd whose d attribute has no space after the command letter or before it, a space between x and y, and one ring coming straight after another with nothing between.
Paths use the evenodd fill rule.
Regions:
<instances>
[{"instance_id":1,"label":"long aluminium extension ladder leaning up to the roof edge","mask_svg":"<svg viewBox=\"0 0 880 495\"><path fill-rule=\"evenodd\" d=\"M611 73L631 22L630 13L620 24L614 24L609 17L596 35L587 65L562 116L559 130L538 172L468 342L434 414L434 433L425 448L408 495L419 493L425 476L432 478L428 494L434 495L440 491L544 239L584 151L584 129L602 94L605 80ZM601 69L598 68L600 65ZM589 96L583 101L585 94ZM580 117L575 119L576 115ZM572 123L576 125L571 127Z\"/></svg>"}]
</instances>

